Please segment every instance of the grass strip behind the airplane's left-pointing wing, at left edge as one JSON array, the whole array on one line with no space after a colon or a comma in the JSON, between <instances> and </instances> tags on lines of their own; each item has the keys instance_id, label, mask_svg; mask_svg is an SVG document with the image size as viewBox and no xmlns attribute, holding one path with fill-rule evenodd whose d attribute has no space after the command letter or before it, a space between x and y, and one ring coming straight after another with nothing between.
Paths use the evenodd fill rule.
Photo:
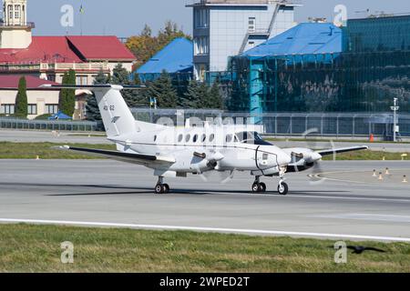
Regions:
<instances>
[{"instance_id":1,"label":"grass strip behind the airplane's left-pointing wing, at left edge","mask_svg":"<svg viewBox=\"0 0 410 291\"><path fill-rule=\"evenodd\" d=\"M78 155L70 151L51 149L52 146L77 146L115 150L114 145L87 145L87 144L52 144L52 143L9 143L0 142L0 159L32 159L39 156L41 159L93 159L96 157Z\"/></svg>"}]
</instances>

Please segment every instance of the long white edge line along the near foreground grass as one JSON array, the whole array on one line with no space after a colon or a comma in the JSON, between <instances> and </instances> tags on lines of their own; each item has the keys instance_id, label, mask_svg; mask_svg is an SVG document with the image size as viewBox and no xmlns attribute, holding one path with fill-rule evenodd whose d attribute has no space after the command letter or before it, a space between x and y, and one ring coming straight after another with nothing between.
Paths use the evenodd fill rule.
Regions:
<instances>
[{"instance_id":1,"label":"long white edge line along the near foreground grass","mask_svg":"<svg viewBox=\"0 0 410 291\"><path fill-rule=\"evenodd\" d=\"M235 228L215 228L215 227L197 227L197 226L154 226L154 225L137 225L137 224L119 224L106 222L84 222L84 221L59 221L59 220L40 220L40 219L9 219L0 218L0 223L27 223L40 225L66 225L66 226L100 226L100 227L120 227L120 228L139 228L139 229L159 229L159 230L189 230L200 232L217 232L217 233L234 233L248 235L271 235L271 236L307 236L307 237L326 237L337 239L355 239L355 240L373 240L389 242L406 242L410 243L408 237L392 236L359 236L359 235L342 235L342 234L321 234L291 231L274 231L274 230L257 230L257 229L235 229Z\"/></svg>"}]
</instances>

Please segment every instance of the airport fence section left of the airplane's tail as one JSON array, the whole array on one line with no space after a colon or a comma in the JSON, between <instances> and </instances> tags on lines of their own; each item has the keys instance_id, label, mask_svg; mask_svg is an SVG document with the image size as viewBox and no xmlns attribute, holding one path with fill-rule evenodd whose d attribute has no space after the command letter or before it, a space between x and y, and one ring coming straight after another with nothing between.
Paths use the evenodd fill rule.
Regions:
<instances>
[{"instance_id":1,"label":"airport fence section left of the airplane's tail","mask_svg":"<svg viewBox=\"0 0 410 291\"><path fill-rule=\"evenodd\" d=\"M99 131L101 125L91 121L25 120L0 118L0 128L21 130Z\"/></svg>"}]
</instances>

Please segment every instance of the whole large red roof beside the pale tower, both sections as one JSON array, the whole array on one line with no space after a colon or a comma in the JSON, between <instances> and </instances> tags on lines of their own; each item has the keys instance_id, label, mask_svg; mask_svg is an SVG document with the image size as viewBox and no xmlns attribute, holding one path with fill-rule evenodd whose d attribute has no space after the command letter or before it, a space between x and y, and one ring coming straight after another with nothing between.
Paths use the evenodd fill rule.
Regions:
<instances>
[{"instance_id":1,"label":"whole large red roof beside the pale tower, both sections","mask_svg":"<svg viewBox=\"0 0 410 291\"><path fill-rule=\"evenodd\" d=\"M133 61L116 36L33 36L25 49L0 49L0 63L82 63L89 60Z\"/></svg>"}]
</instances>

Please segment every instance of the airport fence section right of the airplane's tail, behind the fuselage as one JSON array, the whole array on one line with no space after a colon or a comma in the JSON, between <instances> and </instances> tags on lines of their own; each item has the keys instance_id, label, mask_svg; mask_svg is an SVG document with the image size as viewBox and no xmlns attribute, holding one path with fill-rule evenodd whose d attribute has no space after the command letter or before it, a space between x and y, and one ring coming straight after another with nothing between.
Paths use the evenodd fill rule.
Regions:
<instances>
[{"instance_id":1,"label":"airport fence section right of the airplane's tail, behind the fuselage","mask_svg":"<svg viewBox=\"0 0 410 291\"><path fill-rule=\"evenodd\" d=\"M384 140L393 139L393 114L363 113L232 113L220 110L177 110L133 108L137 120L157 123L159 118L170 118L175 124L180 116L221 118L223 123L261 125L265 135L301 136L307 132L316 136L364 137L374 135ZM410 137L410 115L397 115L399 138Z\"/></svg>"}]
</instances>

